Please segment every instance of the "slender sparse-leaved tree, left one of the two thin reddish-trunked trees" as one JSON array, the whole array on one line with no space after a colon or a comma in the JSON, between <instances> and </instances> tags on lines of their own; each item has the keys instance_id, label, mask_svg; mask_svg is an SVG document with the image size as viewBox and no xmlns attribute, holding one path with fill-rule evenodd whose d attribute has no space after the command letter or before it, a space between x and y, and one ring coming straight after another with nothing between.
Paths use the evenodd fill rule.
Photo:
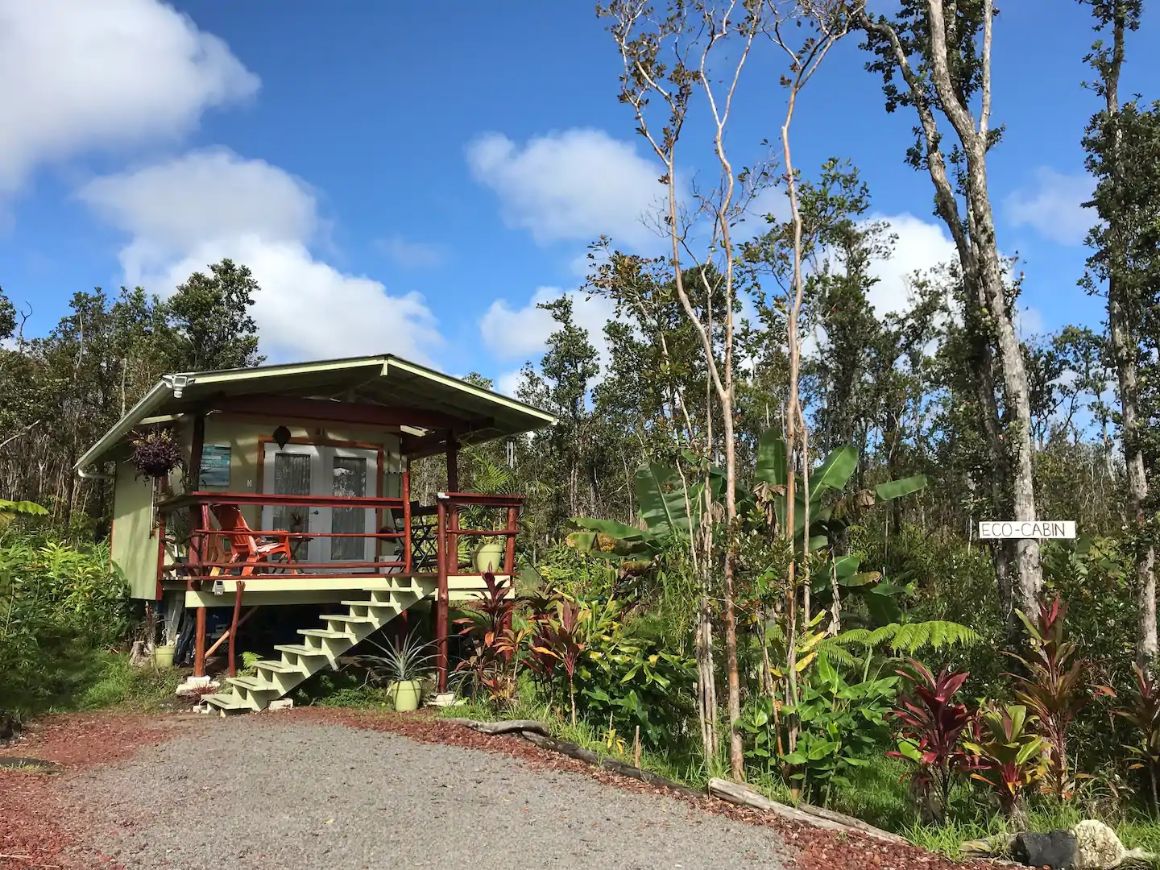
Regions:
<instances>
[{"instance_id":1,"label":"slender sparse-leaved tree, left one of the two thin reddish-trunked trees","mask_svg":"<svg viewBox=\"0 0 1160 870\"><path fill-rule=\"evenodd\" d=\"M674 0L657 15L646 0L614 0L600 14L610 20L609 31L623 64L621 102L632 109L637 131L648 144L661 165L665 205L661 226L670 249L676 298L699 345L708 374L706 392L719 408L720 448L724 462L724 536L722 553L723 622L725 633L726 706L730 722L730 767L735 778L744 776L741 734L737 723L741 716L741 686L738 669L738 638L734 579L738 543L738 461L737 461L737 338L740 298L739 251L733 227L745 212L754 193L754 182L762 173L746 173L734 167L726 146L726 129L733 117L738 84L749 53L762 35L767 8L763 3L725 0ZM655 108L651 108L655 101ZM715 165L715 183L693 194L693 211L687 213L686 186L677 176L677 152L690 107L704 109L709 159ZM682 152L683 153L683 152ZM697 220L699 218L699 220ZM696 225L694 230L690 223ZM699 252L694 244L706 240ZM689 266L711 268L687 269ZM686 281L688 276L696 280ZM712 306L720 295L722 306ZM695 297L708 304L698 305ZM709 461L716 457L706 456ZM706 501L705 515L712 514L712 491L702 487ZM710 544L709 552L715 552ZM702 673L702 733L706 754L715 740L712 717L708 710L705 655L709 639L708 583L710 563L703 563L705 614L698 630L698 659Z\"/></svg>"}]
</instances>

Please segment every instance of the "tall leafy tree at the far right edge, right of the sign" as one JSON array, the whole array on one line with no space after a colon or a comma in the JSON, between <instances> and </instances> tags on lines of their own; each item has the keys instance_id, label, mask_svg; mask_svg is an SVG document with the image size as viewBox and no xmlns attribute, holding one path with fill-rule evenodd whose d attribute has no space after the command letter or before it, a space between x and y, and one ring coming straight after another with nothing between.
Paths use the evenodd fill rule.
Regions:
<instances>
[{"instance_id":1,"label":"tall leafy tree at the far right edge, right of the sign","mask_svg":"<svg viewBox=\"0 0 1160 870\"><path fill-rule=\"evenodd\" d=\"M1157 587L1154 529L1148 529L1150 463L1141 407L1141 369L1155 369L1146 353L1157 288L1160 285L1160 109L1141 108L1138 99L1121 103L1119 78L1128 32L1139 28L1141 0L1086 0L1099 39L1087 61L1096 73L1093 88L1103 108L1088 124L1083 146L1088 169L1097 179L1093 204L1100 224L1088 234L1093 254L1081 282L1103 291L1108 304L1108 339L1119 398L1119 435L1128 478L1131 549L1136 560L1137 658L1154 661ZM1151 372L1153 376L1155 371ZM1145 377L1144 382L1147 383ZM1154 507L1154 506L1153 506Z\"/></svg>"}]
</instances>

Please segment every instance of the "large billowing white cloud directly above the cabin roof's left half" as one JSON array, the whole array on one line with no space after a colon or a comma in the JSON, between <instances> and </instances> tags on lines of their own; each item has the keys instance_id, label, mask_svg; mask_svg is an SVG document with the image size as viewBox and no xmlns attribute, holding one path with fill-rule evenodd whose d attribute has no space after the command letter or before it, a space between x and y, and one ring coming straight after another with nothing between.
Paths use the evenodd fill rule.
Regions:
<instances>
[{"instance_id":1,"label":"large billowing white cloud directly above the cabin roof's left half","mask_svg":"<svg viewBox=\"0 0 1160 870\"><path fill-rule=\"evenodd\" d=\"M393 351L429 361L442 343L421 296L392 296L311 254L314 196L267 162L194 152L96 179L79 195L130 237L121 252L130 283L168 293L222 258L248 266L262 287L254 319L273 360Z\"/></svg>"}]
</instances>

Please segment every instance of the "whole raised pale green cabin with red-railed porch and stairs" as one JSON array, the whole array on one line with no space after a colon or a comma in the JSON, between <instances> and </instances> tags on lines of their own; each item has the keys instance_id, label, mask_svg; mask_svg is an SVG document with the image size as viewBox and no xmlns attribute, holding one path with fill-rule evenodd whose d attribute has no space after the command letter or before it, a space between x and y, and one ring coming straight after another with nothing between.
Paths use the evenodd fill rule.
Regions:
<instances>
[{"instance_id":1,"label":"whole raised pale green cabin with red-railed porch and stairs","mask_svg":"<svg viewBox=\"0 0 1160 870\"><path fill-rule=\"evenodd\" d=\"M459 492L459 449L553 422L391 354L189 371L162 377L77 472L113 479L113 558L132 596L188 638L194 674L229 643L230 690L206 701L261 710L411 608L434 617L444 689L449 602L474 596L485 572L514 573L523 503ZM423 505L411 466L433 456L445 488ZM487 521L469 528L464 514ZM297 643L237 676L249 616L300 606L321 612Z\"/></svg>"}]
</instances>

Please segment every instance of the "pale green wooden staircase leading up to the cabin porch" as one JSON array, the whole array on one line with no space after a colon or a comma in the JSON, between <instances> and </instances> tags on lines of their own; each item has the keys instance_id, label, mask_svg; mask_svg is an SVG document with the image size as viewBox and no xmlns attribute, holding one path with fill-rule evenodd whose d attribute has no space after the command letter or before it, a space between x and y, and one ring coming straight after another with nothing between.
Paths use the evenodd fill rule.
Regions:
<instances>
[{"instance_id":1,"label":"pale green wooden staircase leading up to the cabin porch","mask_svg":"<svg viewBox=\"0 0 1160 870\"><path fill-rule=\"evenodd\" d=\"M223 716L264 710L271 701L288 694L324 667L338 668L340 655L434 589L433 581L427 581L425 586L413 577L391 578L389 582L385 589L371 590L369 599L343 601L348 608L346 614L320 616L326 623L325 629L298 629L303 636L300 644L274 647L282 653L281 659L262 659L258 662L256 675L231 676L226 680L229 691L205 695L202 701L218 708Z\"/></svg>"}]
</instances>

